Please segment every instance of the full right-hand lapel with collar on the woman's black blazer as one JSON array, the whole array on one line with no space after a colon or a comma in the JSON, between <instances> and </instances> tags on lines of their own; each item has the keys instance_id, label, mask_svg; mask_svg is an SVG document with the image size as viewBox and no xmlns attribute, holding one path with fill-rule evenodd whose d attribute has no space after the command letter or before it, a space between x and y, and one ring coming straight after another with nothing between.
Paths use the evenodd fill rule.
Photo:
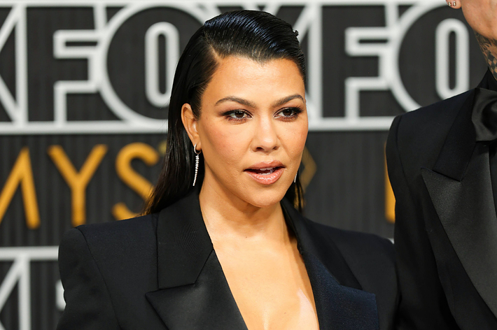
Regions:
<instances>
[{"instance_id":1,"label":"full right-hand lapel with collar on the woman's black blazer","mask_svg":"<svg viewBox=\"0 0 497 330\"><path fill-rule=\"evenodd\" d=\"M379 329L376 296L362 291L342 254L330 241L320 242L309 233L307 220L284 200L281 206L297 236L298 248L311 282L319 329ZM339 274L340 284L330 270Z\"/></svg>"}]
</instances>

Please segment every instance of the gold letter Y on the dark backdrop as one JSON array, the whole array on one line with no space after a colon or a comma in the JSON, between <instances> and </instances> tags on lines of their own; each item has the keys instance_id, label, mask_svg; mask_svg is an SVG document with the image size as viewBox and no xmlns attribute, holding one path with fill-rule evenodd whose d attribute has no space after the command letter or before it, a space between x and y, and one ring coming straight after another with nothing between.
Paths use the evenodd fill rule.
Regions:
<instances>
[{"instance_id":1,"label":"gold letter Y on the dark backdrop","mask_svg":"<svg viewBox=\"0 0 497 330\"><path fill-rule=\"evenodd\" d=\"M76 227L86 222L86 187L107 152L106 145L95 145L80 171L76 171L71 160L60 145L51 145L48 155L71 188L72 224Z\"/></svg>"}]
</instances>

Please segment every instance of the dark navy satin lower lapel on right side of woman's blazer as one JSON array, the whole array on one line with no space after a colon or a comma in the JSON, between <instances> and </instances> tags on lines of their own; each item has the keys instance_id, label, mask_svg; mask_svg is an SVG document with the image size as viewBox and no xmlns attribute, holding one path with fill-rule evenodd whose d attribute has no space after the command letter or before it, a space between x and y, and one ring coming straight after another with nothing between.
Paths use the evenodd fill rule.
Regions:
<instances>
[{"instance_id":1,"label":"dark navy satin lower lapel on right side of woman's blazer","mask_svg":"<svg viewBox=\"0 0 497 330\"><path fill-rule=\"evenodd\" d=\"M376 296L339 285L318 258L302 252L321 330L379 329Z\"/></svg>"}]
</instances>

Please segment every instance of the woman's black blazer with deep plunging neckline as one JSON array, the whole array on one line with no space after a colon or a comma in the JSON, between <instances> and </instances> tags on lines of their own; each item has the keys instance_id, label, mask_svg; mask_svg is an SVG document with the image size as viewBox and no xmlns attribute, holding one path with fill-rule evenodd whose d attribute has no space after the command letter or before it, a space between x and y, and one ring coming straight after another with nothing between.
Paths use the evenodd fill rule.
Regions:
<instances>
[{"instance_id":1,"label":"woman's black blazer with deep plunging neckline","mask_svg":"<svg viewBox=\"0 0 497 330\"><path fill-rule=\"evenodd\" d=\"M391 329L393 247L311 222L287 201L320 329ZM71 229L59 247L66 308L57 329L246 329L202 220L198 195L131 220Z\"/></svg>"}]
</instances>

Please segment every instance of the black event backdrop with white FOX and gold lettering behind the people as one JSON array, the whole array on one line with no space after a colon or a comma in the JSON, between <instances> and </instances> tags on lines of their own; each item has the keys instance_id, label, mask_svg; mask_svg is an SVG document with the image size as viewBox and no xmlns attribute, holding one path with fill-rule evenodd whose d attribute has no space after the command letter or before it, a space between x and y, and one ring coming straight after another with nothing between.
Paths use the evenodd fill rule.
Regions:
<instances>
[{"instance_id":1,"label":"black event backdrop with white FOX and gold lettering behind the people","mask_svg":"<svg viewBox=\"0 0 497 330\"><path fill-rule=\"evenodd\" d=\"M0 330L55 329L57 245L139 212L167 138L176 61L205 20L266 10L307 56L305 214L393 236L393 117L475 87L486 67L444 0L0 1Z\"/></svg>"}]
</instances>

